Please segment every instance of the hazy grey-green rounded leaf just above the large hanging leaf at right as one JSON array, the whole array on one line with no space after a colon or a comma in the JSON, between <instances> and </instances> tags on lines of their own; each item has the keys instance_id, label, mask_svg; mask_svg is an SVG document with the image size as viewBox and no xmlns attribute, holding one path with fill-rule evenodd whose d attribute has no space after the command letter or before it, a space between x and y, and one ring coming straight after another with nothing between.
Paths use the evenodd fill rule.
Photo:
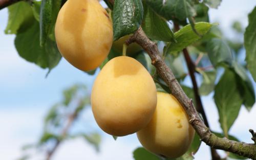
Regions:
<instances>
[{"instance_id":1,"label":"hazy grey-green rounded leaf just above the large hanging leaf at right","mask_svg":"<svg viewBox=\"0 0 256 160\"><path fill-rule=\"evenodd\" d=\"M214 65L214 67L217 67L221 62L226 62L231 65L231 62L233 61L232 53L227 43L222 39L212 38L208 40L206 51L211 64Z\"/></svg>"}]
</instances>

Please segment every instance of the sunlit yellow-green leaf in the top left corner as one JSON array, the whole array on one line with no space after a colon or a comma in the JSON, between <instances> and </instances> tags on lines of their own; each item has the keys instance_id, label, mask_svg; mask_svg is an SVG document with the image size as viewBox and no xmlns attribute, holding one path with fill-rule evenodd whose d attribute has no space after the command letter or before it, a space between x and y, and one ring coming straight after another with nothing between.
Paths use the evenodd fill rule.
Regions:
<instances>
[{"instance_id":1,"label":"sunlit yellow-green leaf in the top left corner","mask_svg":"<svg viewBox=\"0 0 256 160\"><path fill-rule=\"evenodd\" d=\"M27 2L18 2L8 7L9 19L5 29L6 34L16 34L22 24L29 26L33 12Z\"/></svg>"}]
</instances>

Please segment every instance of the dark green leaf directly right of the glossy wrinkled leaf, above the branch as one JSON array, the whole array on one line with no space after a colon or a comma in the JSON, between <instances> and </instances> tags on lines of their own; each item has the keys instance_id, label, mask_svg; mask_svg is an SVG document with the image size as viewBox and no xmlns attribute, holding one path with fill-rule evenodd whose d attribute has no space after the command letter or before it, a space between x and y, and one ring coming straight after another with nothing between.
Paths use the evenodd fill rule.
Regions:
<instances>
[{"instance_id":1,"label":"dark green leaf directly right of the glossy wrinkled leaf, above the branch","mask_svg":"<svg viewBox=\"0 0 256 160\"><path fill-rule=\"evenodd\" d=\"M146 5L144 5L144 17L141 27L151 39L160 41L174 40L174 34L168 27L166 21Z\"/></svg>"}]
</instances>

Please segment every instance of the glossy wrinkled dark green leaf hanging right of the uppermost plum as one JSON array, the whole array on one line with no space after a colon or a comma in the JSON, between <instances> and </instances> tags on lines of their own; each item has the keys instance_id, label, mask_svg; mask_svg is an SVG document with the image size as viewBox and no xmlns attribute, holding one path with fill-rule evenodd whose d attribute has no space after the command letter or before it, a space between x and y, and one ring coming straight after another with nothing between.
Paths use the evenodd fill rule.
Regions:
<instances>
[{"instance_id":1,"label":"glossy wrinkled dark green leaf hanging right of the uppermost plum","mask_svg":"<svg viewBox=\"0 0 256 160\"><path fill-rule=\"evenodd\" d=\"M141 0L116 0L113 10L114 40L134 33L143 18Z\"/></svg>"}]
</instances>

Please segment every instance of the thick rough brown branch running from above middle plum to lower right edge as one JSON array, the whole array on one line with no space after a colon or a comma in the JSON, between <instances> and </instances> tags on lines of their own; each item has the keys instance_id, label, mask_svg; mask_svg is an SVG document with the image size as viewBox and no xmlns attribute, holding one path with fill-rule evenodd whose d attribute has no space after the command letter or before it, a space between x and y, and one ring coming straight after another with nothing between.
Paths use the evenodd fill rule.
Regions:
<instances>
[{"instance_id":1,"label":"thick rough brown branch running from above middle plum to lower right edge","mask_svg":"<svg viewBox=\"0 0 256 160\"><path fill-rule=\"evenodd\" d=\"M172 95L174 95L182 104L189 118L189 123L194 127L200 136L201 141L215 149L221 149L251 159L256 159L256 146L254 144L246 144L244 142L236 142L226 138L219 138L210 132L208 127L200 119L192 100L186 96L172 70L170 70L170 68L164 63L158 51L157 44L148 39L141 27L129 40L126 41L126 43L129 44L134 41L141 45L141 47L151 57L152 64L156 67L159 75L168 85Z\"/></svg>"}]
</instances>

